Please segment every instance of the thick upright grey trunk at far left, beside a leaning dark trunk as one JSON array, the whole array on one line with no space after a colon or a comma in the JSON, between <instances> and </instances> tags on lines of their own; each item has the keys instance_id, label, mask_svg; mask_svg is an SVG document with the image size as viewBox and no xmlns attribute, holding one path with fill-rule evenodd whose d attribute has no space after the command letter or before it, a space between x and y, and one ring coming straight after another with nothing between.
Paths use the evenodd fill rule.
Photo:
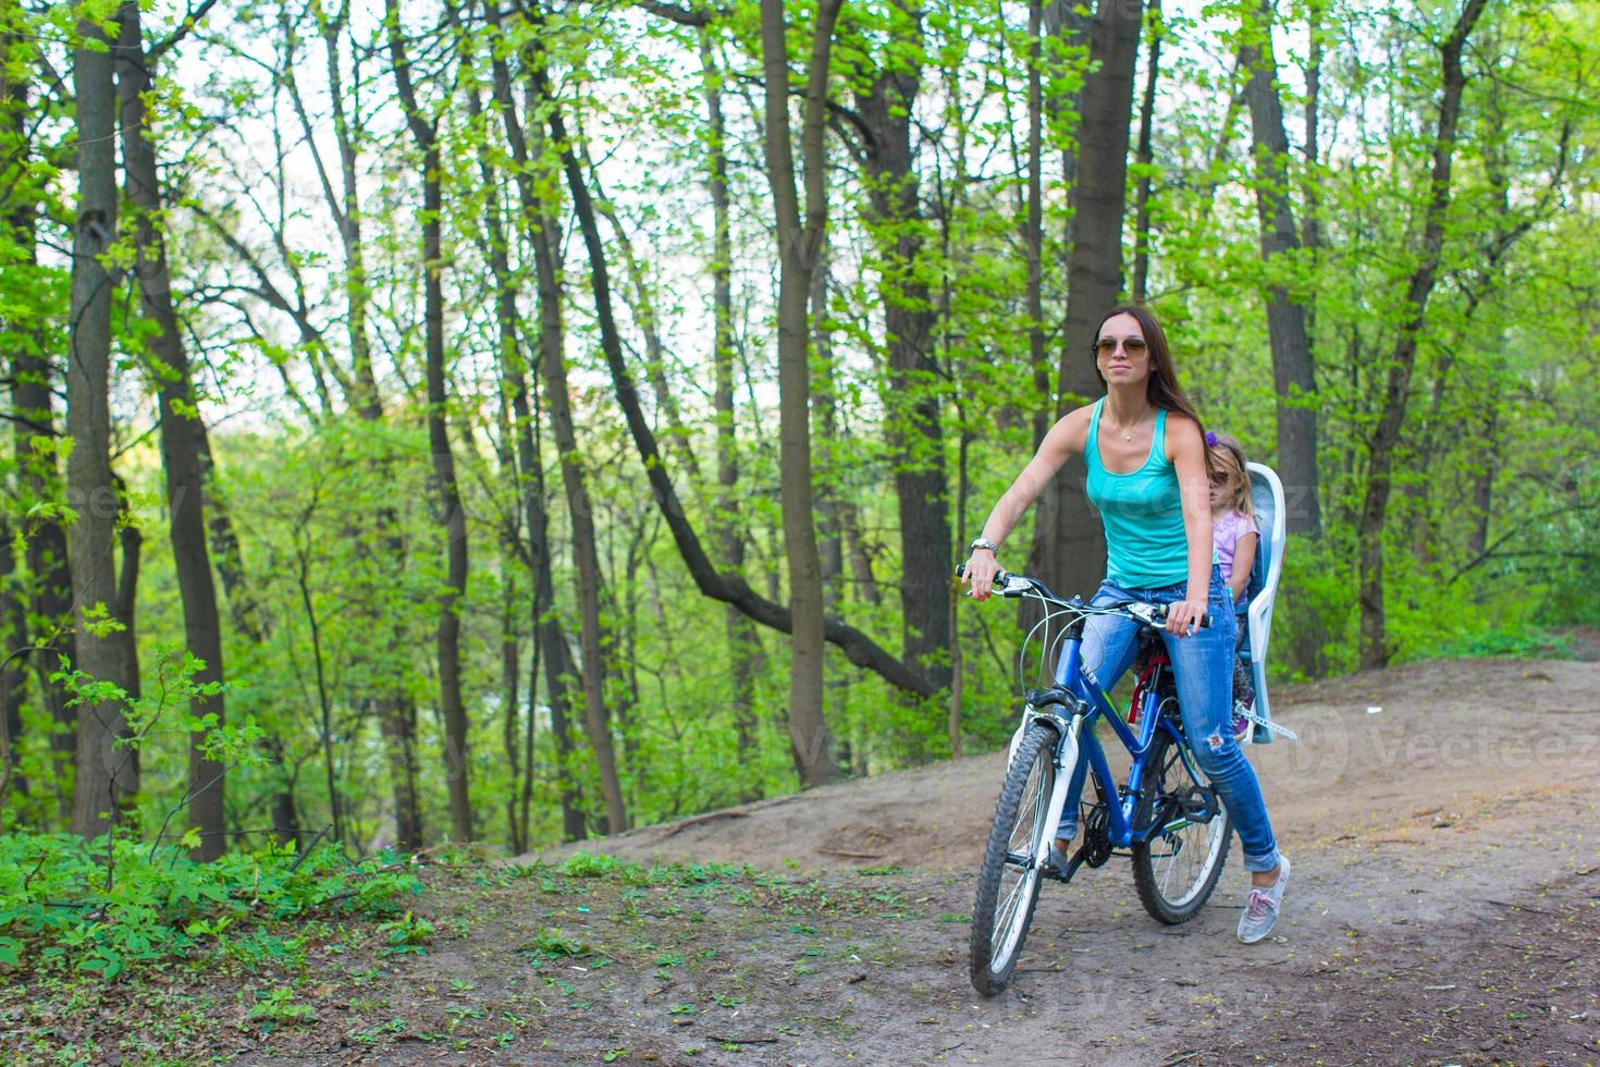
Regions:
<instances>
[{"instance_id":1,"label":"thick upright grey trunk at far left, beside a leaning dark trunk","mask_svg":"<svg viewBox=\"0 0 1600 1067\"><path fill-rule=\"evenodd\" d=\"M67 499L77 510L69 549L77 622L77 669L126 688L128 661L107 632L106 614L117 601L112 539L117 490L110 475L110 290L104 256L117 240L115 98L110 42L93 22L80 22L85 42L74 50L77 101L78 208L72 234L72 314L67 360ZM96 42L96 46L88 46ZM138 776L115 750L126 718L115 701L78 707L77 779L72 832L106 833L114 813L138 790ZM122 763L122 766L118 766Z\"/></svg>"}]
</instances>

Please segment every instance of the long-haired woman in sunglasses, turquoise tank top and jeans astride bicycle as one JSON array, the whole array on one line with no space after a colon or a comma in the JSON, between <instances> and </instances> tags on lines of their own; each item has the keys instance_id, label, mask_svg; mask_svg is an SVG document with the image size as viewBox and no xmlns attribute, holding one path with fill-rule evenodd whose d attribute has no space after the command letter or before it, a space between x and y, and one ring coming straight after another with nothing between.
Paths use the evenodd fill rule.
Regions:
<instances>
[{"instance_id":1,"label":"long-haired woman in sunglasses, turquoise tank top and jeans astride bicycle","mask_svg":"<svg viewBox=\"0 0 1600 1067\"><path fill-rule=\"evenodd\" d=\"M1045 435L1011 488L995 502L966 561L971 595L987 600L1000 571L997 552L1022 512L1070 456L1088 466L1088 498L1106 528L1106 581L1094 605L1139 600L1168 605L1168 657L1178 680L1184 736L1195 763L1227 805L1238 827L1251 891L1238 920L1238 939L1261 941L1278 918L1290 862L1272 838L1267 806L1250 760L1234 741L1234 613L1224 600L1222 574L1211 550L1211 486L1200 418L1184 397L1155 317L1134 306L1114 307L1101 320L1094 365L1106 397L1062 416ZM1211 625L1200 629L1211 613ZM1083 664L1106 689L1128 670L1136 624L1091 616L1083 630ZM1085 766L1067 792L1056 848L1077 833Z\"/></svg>"}]
</instances>

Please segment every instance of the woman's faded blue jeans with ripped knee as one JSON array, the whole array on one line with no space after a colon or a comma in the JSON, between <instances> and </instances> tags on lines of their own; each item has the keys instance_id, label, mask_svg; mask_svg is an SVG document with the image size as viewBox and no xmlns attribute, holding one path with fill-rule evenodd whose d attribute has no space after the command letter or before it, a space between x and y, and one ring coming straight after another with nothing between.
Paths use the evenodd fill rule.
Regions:
<instances>
[{"instance_id":1,"label":"woman's faded blue jeans with ripped knee","mask_svg":"<svg viewBox=\"0 0 1600 1067\"><path fill-rule=\"evenodd\" d=\"M1123 589L1107 577L1090 603L1096 606L1128 600L1176 603L1184 598L1187 589L1187 582L1163 589ZM1267 805L1261 798L1256 768L1250 766L1250 760L1234 741L1234 635L1238 624L1226 590L1222 569L1213 566L1208 597L1211 625L1197 629L1189 637L1173 637L1163 630L1162 640L1166 643L1166 656L1178 680L1178 705L1189 750L1227 805L1245 849L1245 870L1272 870L1278 865L1278 849L1272 840ZM1102 689L1110 691L1133 665L1138 630L1138 622L1115 614L1090 616L1083 625L1083 669ZM1070 838L1077 833L1078 798L1083 795L1086 769L1088 761L1078 760L1067 787L1067 803L1061 811L1056 837Z\"/></svg>"}]
</instances>

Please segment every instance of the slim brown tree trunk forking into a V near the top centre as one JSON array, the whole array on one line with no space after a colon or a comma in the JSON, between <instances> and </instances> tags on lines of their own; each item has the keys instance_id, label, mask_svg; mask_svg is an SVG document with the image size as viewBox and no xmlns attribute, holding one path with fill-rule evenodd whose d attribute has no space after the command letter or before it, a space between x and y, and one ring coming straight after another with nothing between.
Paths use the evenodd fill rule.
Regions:
<instances>
[{"instance_id":1,"label":"slim brown tree trunk forking into a V near the top centre","mask_svg":"<svg viewBox=\"0 0 1600 1067\"><path fill-rule=\"evenodd\" d=\"M762 0L762 64L766 75L766 178L778 218L778 395L779 469L782 472L784 555L789 560L792 617L789 670L789 741L805 785L838 777L832 739L822 721L824 613L822 574L811 522L811 368L808 365L806 298L827 226L822 171L822 120L834 22L843 0L819 0L806 62L806 94L800 130L805 168L805 219L795 194L794 147L789 139L789 51L782 0Z\"/></svg>"}]
</instances>

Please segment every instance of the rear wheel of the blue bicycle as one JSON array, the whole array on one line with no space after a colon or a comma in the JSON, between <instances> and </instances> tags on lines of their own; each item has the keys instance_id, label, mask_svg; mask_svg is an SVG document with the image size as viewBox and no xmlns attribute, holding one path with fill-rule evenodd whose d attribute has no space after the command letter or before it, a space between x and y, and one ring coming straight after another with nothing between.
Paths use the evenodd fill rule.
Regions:
<instances>
[{"instance_id":1,"label":"rear wheel of the blue bicycle","mask_svg":"<svg viewBox=\"0 0 1600 1067\"><path fill-rule=\"evenodd\" d=\"M1144 910L1160 923L1176 926L1194 918L1211 897L1234 825L1216 793L1206 822L1192 821L1179 798L1192 798L1195 787L1208 787L1205 774L1184 760L1184 742L1162 731L1150 750L1149 777L1139 805L1139 824L1163 821L1163 830L1133 845L1133 883Z\"/></svg>"}]
</instances>

